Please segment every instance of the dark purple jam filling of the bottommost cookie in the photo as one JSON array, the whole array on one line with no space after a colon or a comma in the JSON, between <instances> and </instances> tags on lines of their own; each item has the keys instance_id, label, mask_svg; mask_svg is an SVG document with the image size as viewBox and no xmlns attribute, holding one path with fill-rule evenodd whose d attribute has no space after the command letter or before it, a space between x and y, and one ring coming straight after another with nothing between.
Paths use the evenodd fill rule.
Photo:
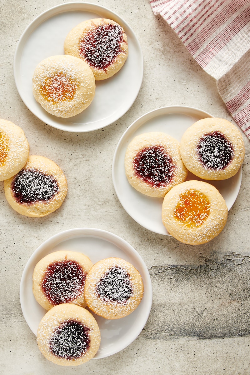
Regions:
<instances>
[{"instance_id":1,"label":"dark purple jam filling of the bottommost cookie in the photo","mask_svg":"<svg viewBox=\"0 0 250 375\"><path fill-rule=\"evenodd\" d=\"M90 346L88 327L80 322L67 320L55 329L49 342L49 350L54 356L67 360L82 357Z\"/></svg>"}]
</instances>

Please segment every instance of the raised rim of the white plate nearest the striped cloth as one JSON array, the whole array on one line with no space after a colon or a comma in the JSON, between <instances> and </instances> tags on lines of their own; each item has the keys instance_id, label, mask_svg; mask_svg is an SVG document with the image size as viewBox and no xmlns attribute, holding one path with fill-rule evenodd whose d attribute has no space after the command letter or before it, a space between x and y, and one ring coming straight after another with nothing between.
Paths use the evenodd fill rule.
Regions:
<instances>
[{"instance_id":1,"label":"raised rim of the white plate nearest the striped cloth","mask_svg":"<svg viewBox=\"0 0 250 375\"><path fill-rule=\"evenodd\" d=\"M163 235L163 236L171 236L171 235L168 233L167 230L166 230L166 233L162 233L160 231L156 232L156 231L150 229L148 226L143 225L141 222L139 222L138 220L136 220L135 217L131 216L130 213L124 207L123 203L120 200L118 189L117 189L117 185L116 185L116 180L115 180L115 163L117 162L117 155L118 155L118 153L120 151L121 144L122 144L124 138L126 138L126 136L130 136L131 135L130 133L135 133L136 130L139 129L139 127L141 127L146 121L150 120L151 118L154 118L154 117L156 117L158 115L164 115L164 114L165 115L168 115L168 114L186 114L185 110L195 111L196 113L201 113L201 114L207 115L208 117L215 117L215 116L211 115L210 113L208 113L208 112L206 112L204 110L201 110L201 109L196 108L196 107L186 106L186 105L169 105L169 106L164 106L164 107L160 107L160 108L156 108L154 110L151 110L151 111L149 111L149 112L141 115L140 117L138 117L135 121L133 121L132 124L130 124L129 127L127 127L127 129L124 131L123 135L121 136L121 138L118 141L118 144L117 144L117 146L115 148L113 160L112 160L112 181L113 181L113 186L114 186L117 198L118 198L120 204L122 205L122 207L124 208L124 210L127 212L127 214L130 217L132 217L133 220L135 220L135 222L137 222L143 228L148 229L148 230L150 230L153 233L160 234L160 235ZM138 126L135 126L136 123L137 123ZM237 192L236 198L238 196L238 193L239 193L240 187L241 187L242 165L241 165L239 171L237 172L237 174L239 174L239 176L238 176L238 183L237 183L237 189L236 189L236 192ZM235 198L235 200L236 200L236 198ZM235 202L235 200L234 200L234 202ZM234 202L232 203L232 205L234 204ZM230 207L228 207L228 211L232 208L232 205Z\"/></svg>"}]
</instances>

